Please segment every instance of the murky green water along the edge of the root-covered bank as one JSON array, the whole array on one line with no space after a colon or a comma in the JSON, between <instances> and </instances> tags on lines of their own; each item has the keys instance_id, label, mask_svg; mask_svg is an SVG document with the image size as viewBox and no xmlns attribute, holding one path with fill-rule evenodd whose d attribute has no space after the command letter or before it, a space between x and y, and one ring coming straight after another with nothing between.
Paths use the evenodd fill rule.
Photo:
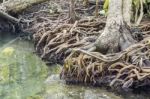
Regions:
<instances>
[{"instance_id":1,"label":"murky green water along the edge of the root-covered bank","mask_svg":"<svg viewBox=\"0 0 150 99\"><path fill-rule=\"evenodd\" d=\"M8 40L9 39L9 40ZM148 99L115 95L100 88L66 85L61 66L49 68L34 53L31 42L1 38L0 99Z\"/></svg>"}]
</instances>

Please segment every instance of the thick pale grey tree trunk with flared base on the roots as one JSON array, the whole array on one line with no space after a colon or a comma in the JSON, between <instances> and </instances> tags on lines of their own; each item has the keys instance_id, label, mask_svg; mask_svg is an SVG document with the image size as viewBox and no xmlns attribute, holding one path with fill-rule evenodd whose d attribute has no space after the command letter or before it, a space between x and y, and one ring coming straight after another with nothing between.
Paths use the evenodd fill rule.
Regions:
<instances>
[{"instance_id":1,"label":"thick pale grey tree trunk with flared base on the roots","mask_svg":"<svg viewBox=\"0 0 150 99\"><path fill-rule=\"evenodd\" d=\"M97 50L102 53L118 52L135 43L128 27L130 17L123 15L123 11L127 13L130 8L125 7L123 10L123 3L126 2L123 0L110 0L109 2L105 29L95 42Z\"/></svg>"}]
</instances>

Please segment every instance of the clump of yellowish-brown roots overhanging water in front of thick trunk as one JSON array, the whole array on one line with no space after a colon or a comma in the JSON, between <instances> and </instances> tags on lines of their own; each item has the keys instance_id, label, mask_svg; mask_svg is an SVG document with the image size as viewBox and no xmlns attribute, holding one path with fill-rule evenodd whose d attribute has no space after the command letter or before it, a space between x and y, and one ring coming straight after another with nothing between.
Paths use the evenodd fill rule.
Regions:
<instances>
[{"instance_id":1,"label":"clump of yellowish-brown roots overhanging water in front of thick trunk","mask_svg":"<svg viewBox=\"0 0 150 99\"><path fill-rule=\"evenodd\" d=\"M145 81L150 77L149 39L110 55L76 49L66 58L61 77L67 82L105 84L123 89L148 85Z\"/></svg>"}]
</instances>

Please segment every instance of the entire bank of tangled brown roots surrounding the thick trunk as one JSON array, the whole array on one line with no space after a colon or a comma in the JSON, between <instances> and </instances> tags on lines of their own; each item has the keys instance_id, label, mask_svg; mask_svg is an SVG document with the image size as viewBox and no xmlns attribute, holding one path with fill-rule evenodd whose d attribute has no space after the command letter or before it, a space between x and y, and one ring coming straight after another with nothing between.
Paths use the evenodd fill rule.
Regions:
<instances>
[{"instance_id":1,"label":"entire bank of tangled brown roots surrounding the thick trunk","mask_svg":"<svg viewBox=\"0 0 150 99\"><path fill-rule=\"evenodd\" d=\"M62 79L121 90L149 86L149 22L133 28L135 45L105 55L90 52L90 48L104 30L106 17L95 17L95 5L87 8L80 1L75 9L78 18L71 23L68 8L66 0L56 0L32 6L20 14L29 20L22 30L33 33L37 54L47 64L63 64Z\"/></svg>"}]
</instances>

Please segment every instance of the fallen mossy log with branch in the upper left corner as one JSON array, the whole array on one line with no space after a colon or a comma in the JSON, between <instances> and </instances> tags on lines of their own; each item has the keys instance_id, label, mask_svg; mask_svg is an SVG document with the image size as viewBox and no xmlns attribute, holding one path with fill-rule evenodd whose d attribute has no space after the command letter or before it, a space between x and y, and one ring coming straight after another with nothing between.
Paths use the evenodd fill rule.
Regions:
<instances>
[{"instance_id":1,"label":"fallen mossy log with branch in the upper left corner","mask_svg":"<svg viewBox=\"0 0 150 99\"><path fill-rule=\"evenodd\" d=\"M13 23L21 22L20 19L17 19L11 15L21 12L22 10L26 9L33 4L42 3L47 0L8 0L0 5L0 18L7 19ZM9 13L9 14L8 14Z\"/></svg>"}]
</instances>

